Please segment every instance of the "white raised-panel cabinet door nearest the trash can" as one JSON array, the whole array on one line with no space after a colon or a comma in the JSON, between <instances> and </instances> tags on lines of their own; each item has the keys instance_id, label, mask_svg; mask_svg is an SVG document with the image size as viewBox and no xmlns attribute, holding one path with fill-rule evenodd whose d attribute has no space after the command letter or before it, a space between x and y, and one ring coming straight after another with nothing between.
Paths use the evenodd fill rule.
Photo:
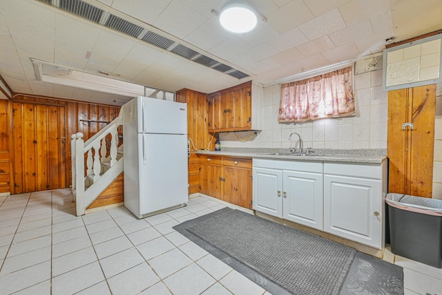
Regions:
<instances>
[{"instance_id":1,"label":"white raised-panel cabinet door nearest the trash can","mask_svg":"<svg viewBox=\"0 0 442 295\"><path fill-rule=\"evenodd\" d=\"M382 249L382 181L324 175L324 231Z\"/></svg>"}]
</instances>

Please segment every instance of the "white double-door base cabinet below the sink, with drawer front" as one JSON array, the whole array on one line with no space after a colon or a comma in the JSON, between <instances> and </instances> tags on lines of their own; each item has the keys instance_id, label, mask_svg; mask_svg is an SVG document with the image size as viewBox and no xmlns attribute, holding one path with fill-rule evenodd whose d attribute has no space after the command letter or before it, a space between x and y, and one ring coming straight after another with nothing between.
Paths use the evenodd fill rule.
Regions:
<instances>
[{"instance_id":1,"label":"white double-door base cabinet below the sink, with drawer front","mask_svg":"<svg viewBox=\"0 0 442 295\"><path fill-rule=\"evenodd\" d=\"M253 160L253 209L322 230L322 169L322 162Z\"/></svg>"}]
</instances>

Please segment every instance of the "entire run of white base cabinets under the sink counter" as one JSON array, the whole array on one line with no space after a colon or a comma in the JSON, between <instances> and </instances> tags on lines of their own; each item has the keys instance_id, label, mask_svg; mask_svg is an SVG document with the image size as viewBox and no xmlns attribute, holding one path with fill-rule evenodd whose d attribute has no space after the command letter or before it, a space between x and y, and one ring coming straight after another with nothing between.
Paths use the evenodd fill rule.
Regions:
<instances>
[{"instance_id":1,"label":"entire run of white base cabinets under the sink counter","mask_svg":"<svg viewBox=\"0 0 442 295\"><path fill-rule=\"evenodd\" d=\"M384 247L387 165L253 159L253 209Z\"/></svg>"}]
</instances>

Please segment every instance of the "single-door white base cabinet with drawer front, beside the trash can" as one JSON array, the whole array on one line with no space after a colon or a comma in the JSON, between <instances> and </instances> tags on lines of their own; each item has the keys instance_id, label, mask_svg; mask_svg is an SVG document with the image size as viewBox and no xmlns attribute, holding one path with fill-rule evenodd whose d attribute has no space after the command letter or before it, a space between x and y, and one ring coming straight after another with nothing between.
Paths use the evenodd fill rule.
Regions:
<instances>
[{"instance_id":1,"label":"single-door white base cabinet with drawer front, beside the trash can","mask_svg":"<svg viewBox=\"0 0 442 295\"><path fill-rule=\"evenodd\" d=\"M324 231L382 249L385 167L324 163Z\"/></svg>"}]
</instances>

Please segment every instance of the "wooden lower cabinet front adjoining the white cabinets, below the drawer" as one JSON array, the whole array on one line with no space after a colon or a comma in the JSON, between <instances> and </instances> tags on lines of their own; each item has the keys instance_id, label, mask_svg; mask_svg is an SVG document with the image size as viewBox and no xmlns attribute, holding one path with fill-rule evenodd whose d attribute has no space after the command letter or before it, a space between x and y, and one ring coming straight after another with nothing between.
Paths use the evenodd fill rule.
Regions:
<instances>
[{"instance_id":1,"label":"wooden lower cabinet front adjoining the white cabinets, below the drawer","mask_svg":"<svg viewBox=\"0 0 442 295\"><path fill-rule=\"evenodd\" d=\"M251 209L251 169L224 166L222 200Z\"/></svg>"}]
</instances>

